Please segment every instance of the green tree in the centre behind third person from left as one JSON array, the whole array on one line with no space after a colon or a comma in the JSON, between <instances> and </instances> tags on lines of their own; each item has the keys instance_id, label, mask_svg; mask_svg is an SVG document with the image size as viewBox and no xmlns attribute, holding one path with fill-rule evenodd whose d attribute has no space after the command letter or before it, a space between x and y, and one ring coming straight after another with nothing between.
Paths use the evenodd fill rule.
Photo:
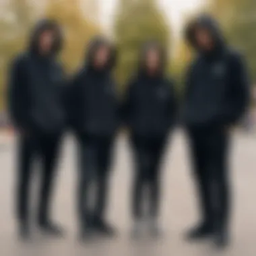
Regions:
<instances>
[{"instance_id":1,"label":"green tree in the centre behind third person from left","mask_svg":"<svg viewBox=\"0 0 256 256\"><path fill-rule=\"evenodd\" d=\"M119 51L117 79L121 85L135 71L143 43L157 40L170 47L170 28L154 0L121 0L114 31Z\"/></svg>"}]
</instances>

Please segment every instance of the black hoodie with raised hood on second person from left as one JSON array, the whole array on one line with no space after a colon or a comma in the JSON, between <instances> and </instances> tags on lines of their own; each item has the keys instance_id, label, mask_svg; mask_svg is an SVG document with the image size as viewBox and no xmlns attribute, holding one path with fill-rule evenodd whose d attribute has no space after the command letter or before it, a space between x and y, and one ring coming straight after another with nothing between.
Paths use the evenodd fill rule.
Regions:
<instances>
[{"instance_id":1,"label":"black hoodie with raised hood on second person from left","mask_svg":"<svg viewBox=\"0 0 256 256\"><path fill-rule=\"evenodd\" d=\"M110 58L103 69L93 65L96 51L106 45ZM68 95L71 127L78 133L95 136L114 135L119 124L119 102L112 77L116 51L112 44L98 37L90 42L86 63L73 78Z\"/></svg>"}]
</instances>

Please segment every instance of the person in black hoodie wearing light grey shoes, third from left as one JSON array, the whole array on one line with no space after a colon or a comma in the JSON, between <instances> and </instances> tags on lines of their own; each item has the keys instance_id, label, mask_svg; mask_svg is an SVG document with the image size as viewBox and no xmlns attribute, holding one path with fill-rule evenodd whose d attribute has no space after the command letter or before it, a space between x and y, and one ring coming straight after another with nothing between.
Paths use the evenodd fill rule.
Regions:
<instances>
[{"instance_id":1,"label":"person in black hoodie wearing light grey shoes, third from left","mask_svg":"<svg viewBox=\"0 0 256 256\"><path fill-rule=\"evenodd\" d=\"M160 160L176 116L174 88L164 75L165 67L164 49L157 42L146 43L141 51L137 75L128 86L123 107L135 156L132 197L135 220L132 234L135 236L140 235L143 228L149 228L152 235L160 232ZM146 201L145 189L148 189ZM148 203L147 216L143 214L145 202Z\"/></svg>"}]
</instances>

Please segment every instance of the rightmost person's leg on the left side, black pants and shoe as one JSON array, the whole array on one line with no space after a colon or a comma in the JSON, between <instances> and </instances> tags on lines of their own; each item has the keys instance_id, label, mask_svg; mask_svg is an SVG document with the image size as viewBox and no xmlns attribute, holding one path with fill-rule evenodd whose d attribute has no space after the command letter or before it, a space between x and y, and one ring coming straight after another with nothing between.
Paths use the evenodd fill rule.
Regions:
<instances>
[{"instance_id":1,"label":"rightmost person's leg on the left side, black pants and shoe","mask_svg":"<svg viewBox=\"0 0 256 256\"><path fill-rule=\"evenodd\" d=\"M210 170L210 152L208 149L208 134L204 129L191 129L189 131L189 140L191 148L191 162L193 174L197 183L197 193L201 210L200 223L189 231L189 239L205 238L212 234L212 203Z\"/></svg>"}]
</instances>

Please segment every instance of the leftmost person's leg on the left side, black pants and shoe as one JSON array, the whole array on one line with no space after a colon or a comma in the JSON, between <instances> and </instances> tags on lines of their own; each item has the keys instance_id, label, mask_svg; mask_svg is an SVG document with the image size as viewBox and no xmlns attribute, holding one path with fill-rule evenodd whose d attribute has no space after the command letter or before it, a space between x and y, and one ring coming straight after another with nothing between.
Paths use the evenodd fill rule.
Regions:
<instances>
[{"instance_id":1,"label":"leftmost person's leg on the left side, black pants and shoe","mask_svg":"<svg viewBox=\"0 0 256 256\"><path fill-rule=\"evenodd\" d=\"M29 195L32 175L32 159L35 154L34 138L22 135L18 142L18 180L16 193L16 214L20 225L20 235L29 235Z\"/></svg>"}]
</instances>

